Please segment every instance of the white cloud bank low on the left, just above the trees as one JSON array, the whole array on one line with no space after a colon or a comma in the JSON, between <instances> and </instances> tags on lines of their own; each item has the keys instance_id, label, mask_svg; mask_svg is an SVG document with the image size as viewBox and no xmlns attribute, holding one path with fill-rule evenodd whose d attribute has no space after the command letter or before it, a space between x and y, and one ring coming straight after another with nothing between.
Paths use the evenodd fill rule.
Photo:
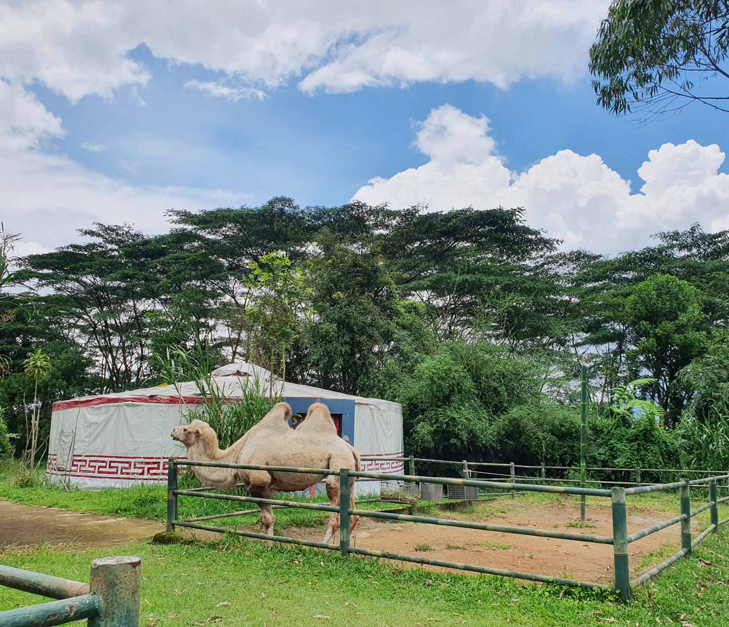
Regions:
<instances>
[{"instance_id":1,"label":"white cloud bank low on the left, just above the trees","mask_svg":"<svg viewBox=\"0 0 729 627\"><path fill-rule=\"evenodd\" d=\"M12 233L22 233L22 252L43 252L76 239L74 230L92 222L132 222L150 232L168 227L167 209L235 206L242 195L189 187L136 186L51 155L39 146L63 136L61 120L32 93L0 80L0 218ZM89 144L87 149L101 149ZM20 248L19 248L20 250Z\"/></svg>"}]
</instances>

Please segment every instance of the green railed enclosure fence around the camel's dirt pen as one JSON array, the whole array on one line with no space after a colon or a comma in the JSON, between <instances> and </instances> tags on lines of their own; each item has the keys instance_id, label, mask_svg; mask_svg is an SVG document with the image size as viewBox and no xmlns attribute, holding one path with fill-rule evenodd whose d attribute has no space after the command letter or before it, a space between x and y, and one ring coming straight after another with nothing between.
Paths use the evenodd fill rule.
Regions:
<instances>
[{"instance_id":1,"label":"green railed enclosure fence around the camel's dirt pen","mask_svg":"<svg viewBox=\"0 0 729 627\"><path fill-rule=\"evenodd\" d=\"M408 459L408 458L405 458ZM412 459L412 458L410 458ZM437 461L437 460L428 460ZM461 462L451 462L460 464ZM467 463L467 462L464 462ZM229 468L238 470L266 470L268 472L295 472L303 473L306 475L321 475L321 476L332 476L338 475L340 483L340 505L324 505L323 503L310 503L310 502L296 502L296 501L282 501L278 499L263 499L256 496L241 496L237 494L219 494L216 492L208 491L211 488L195 488L192 490L180 490L177 486L178 478L178 467L179 466L204 466L204 467L217 467L217 468ZM413 465L411 464L411 469ZM514 464L510 464L510 467L514 467ZM512 475L513 476L513 475ZM420 515L408 515L398 514L391 512L379 512L375 510L361 510L352 508L350 505L350 479L367 479L367 480L381 480L381 481L392 481L399 480L409 483L440 483L445 486L475 486L476 488L497 488L508 491L525 491L525 492L542 492L552 494L573 494L578 496L596 496L604 499L611 499L612 501L612 536L599 536L594 534L582 534L582 533L567 533L562 531L553 531L550 529L532 529L528 527L517 527L517 526L506 526L506 525L494 525L491 523L474 523L469 521L458 521L445 518L432 518L429 516ZM185 527L188 529L201 529L203 531L214 531L217 533L225 533L230 531L233 534L237 534L241 537L254 538L257 540L269 540L273 542L283 542L292 545L302 545L313 548L339 550L343 556L348 555L363 555L372 556L377 558L386 558L390 560L412 562L414 564L426 564L429 566L443 566L445 568L459 569L470 572L478 572L486 575L499 575L502 577L514 577L517 579L531 580L542 583L553 583L560 585L574 585L582 586L584 588L599 588L603 590L615 590L620 594L621 599L628 599L631 595L631 588L646 583L666 569L668 566L673 564L682 556L690 555L691 550L698 545L699 542L704 540L706 536L712 531L718 531L720 526L729 522L729 518L720 521L718 515L718 506L721 502L729 501L729 496L720 499L717 496L717 482L720 480L729 480L729 474L713 476L709 478L702 478L697 480L684 479L676 483L663 483L654 484L650 486L635 486L633 488L624 488L623 486L615 486L611 489L604 488L582 488L572 486L552 486L542 483L537 485L534 483L515 483L513 480L509 482L503 481L489 481L489 480L477 480L465 478L442 478L442 477L426 477L419 475L392 475L378 472L359 472L351 470L327 470L319 468L295 468L295 467L281 467L281 466L254 466L249 464L223 464L214 462L193 462L187 459L170 459L168 464L168 496L167 496L167 530L169 532L174 531L176 526ZM692 486L708 486L709 487L709 501L706 504L695 510L691 509L691 496L690 491ZM680 505L681 514L675 518L671 518L669 521L660 523L659 525L642 529L634 534L628 535L628 524L627 524L627 513L625 505L625 496L631 494L645 494L653 491L666 491L675 488L680 488ZM302 538L288 537L273 535L268 536L262 533L256 533L254 531L241 531L235 529L225 529L221 526L203 525L200 524L201 518L190 518L187 520L179 520L178 515L178 500L179 496L192 496L195 498L202 499L220 499L233 502L249 502L256 504L268 504L273 506L283 507L298 507L305 510L316 510L327 513L338 513L340 515L340 541L339 545L329 545L324 542L315 542L313 540L304 540ZM710 510L711 524L701 534L692 540L691 537L691 518L702 513L705 510ZM240 514L238 512L237 514ZM249 513L249 512L246 512ZM226 518L232 514L219 514L213 516L204 517L206 520L212 520L214 518ZM507 534L521 534L528 536L538 536L548 539L557 540L574 540L577 542L595 542L598 544L612 545L613 553L615 558L615 583L614 585L606 585L602 583L592 583L577 581L572 579L566 579L564 577L550 577L546 575L537 575L535 573L520 572L515 570L491 568L488 566L478 566L475 564L461 564L453 561L443 561L438 559L428 559L416 556L402 555L400 553L389 553L386 551L370 550L366 548L359 548L353 546L350 541L351 533L351 516L362 516L364 518L378 518L389 521L407 521L413 523L424 523L430 525L440 526L452 526L460 527L463 529L478 529L481 531L499 531ZM636 579L630 579L629 569L629 558L628 558L628 545L631 542L636 542L647 535L656 533L661 529L666 529L668 526L679 524L681 525L681 541L682 548L676 555L672 556L662 564L658 564L650 572L637 577Z\"/></svg>"}]
</instances>

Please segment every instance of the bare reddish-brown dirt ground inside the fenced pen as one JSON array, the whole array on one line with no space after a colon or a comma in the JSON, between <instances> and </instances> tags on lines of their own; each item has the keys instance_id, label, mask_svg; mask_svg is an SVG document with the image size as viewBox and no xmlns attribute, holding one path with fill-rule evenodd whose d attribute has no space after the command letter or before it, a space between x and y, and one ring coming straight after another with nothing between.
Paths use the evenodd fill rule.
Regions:
<instances>
[{"instance_id":1,"label":"bare reddish-brown dirt ground inside the fenced pen","mask_svg":"<svg viewBox=\"0 0 729 627\"><path fill-rule=\"evenodd\" d=\"M551 502L529 504L529 510L509 507L510 513L494 515L459 516L453 518L476 520L499 525L523 526L533 529L547 529L580 533L581 529L568 526L570 521L579 521L579 502ZM629 514L629 513L628 513ZM634 533L671 518L665 512L646 512L628 515L628 533ZM595 507L588 503L588 529L585 533L612 536L612 518L609 507ZM694 530L694 533L697 533ZM281 531L278 531L281 533ZM321 529L288 529L295 537L321 540ZM594 583L612 583L612 545L576 540L553 540L551 538L506 534L476 529L458 529L421 523L390 523L362 518L354 531L354 544L361 548L383 550L391 553L421 556L429 559L456 561L462 564L491 566L509 570L521 570L537 575L567 577ZM432 550L416 550L416 545L429 545ZM631 575L641 574L664 558L653 560L640 571L641 558L664 545L674 547L672 553L681 548L679 525L644 537L629 545ZM508 547L508 548L507 548ZM418 547L420 549L423 546ZM402 564L402 563L399 563ZM413 564L413 566L416 566ZM421 567L421 566L416 566ZM442 570L431 566L429 569Z\"/></svg>"}]
</instances>

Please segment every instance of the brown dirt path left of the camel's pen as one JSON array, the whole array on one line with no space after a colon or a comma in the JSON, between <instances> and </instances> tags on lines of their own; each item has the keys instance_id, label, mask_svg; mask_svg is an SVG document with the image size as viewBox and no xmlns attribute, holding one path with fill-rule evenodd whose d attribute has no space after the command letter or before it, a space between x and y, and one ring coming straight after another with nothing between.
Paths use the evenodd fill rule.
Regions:
<instances>
[{"instance_id":1,"label":"brown dirt path left of the camel's pen","mask_svg":"<svg viewBox=\"0 0 729 627\"><path fill-rule=\"evenodd\" d=\"M110 518L0 501L0 546L114 546L150 537L164 526L136 518Z\"/></svg>"}]
</instances>

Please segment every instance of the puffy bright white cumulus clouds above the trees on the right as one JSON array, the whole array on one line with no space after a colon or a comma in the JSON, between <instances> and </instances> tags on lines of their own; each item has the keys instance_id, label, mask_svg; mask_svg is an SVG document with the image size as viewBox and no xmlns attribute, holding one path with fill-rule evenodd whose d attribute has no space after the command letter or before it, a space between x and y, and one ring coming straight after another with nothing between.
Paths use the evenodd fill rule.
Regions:
<instances>
[{"instance_id":1,"label":"puffy bright white cumulus clouds above the trees on the right","mask_svg":"<svg viewBox=\"0 0 729 627\"><path fill-rule=\"evenodd\" d=\"M644 246L660 230L729 227L729 176L718 170L716 144L663 144L630 182L598 155L561 150L524 172L510 171L496 154L486 117L450 105L433 109L417 126L415 145L430 157L389 179L371 179L354 198L394 208L425 203L432 211L473 206L524 207L529 225L564 238L567 247L615 253Z\"/></svg>"}]
</instances>

